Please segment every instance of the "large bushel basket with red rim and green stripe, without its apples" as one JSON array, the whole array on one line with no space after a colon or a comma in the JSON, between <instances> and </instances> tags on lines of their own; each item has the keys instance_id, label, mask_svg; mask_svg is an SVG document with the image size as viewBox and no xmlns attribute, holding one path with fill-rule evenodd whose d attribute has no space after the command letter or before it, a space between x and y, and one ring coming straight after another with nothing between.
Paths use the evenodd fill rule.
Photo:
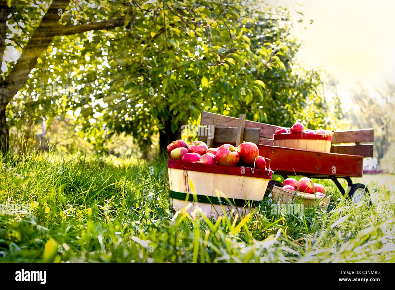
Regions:
<instances>
[{"instance_id":1,"label":"large bushel basket with red rim and green stripe, without its apples","mask_svg":"<svg viewBox=\"0 0 395 290\"><path fill-rule=\"evenodd\" d=\"M209 165L200 162L167 160L170 204L181 210L191 204L191 213L201 208L206 216L254 210L265 194L272 170ZM270 168L270 167L269 167Z\"/></svg>"}]
</instances>

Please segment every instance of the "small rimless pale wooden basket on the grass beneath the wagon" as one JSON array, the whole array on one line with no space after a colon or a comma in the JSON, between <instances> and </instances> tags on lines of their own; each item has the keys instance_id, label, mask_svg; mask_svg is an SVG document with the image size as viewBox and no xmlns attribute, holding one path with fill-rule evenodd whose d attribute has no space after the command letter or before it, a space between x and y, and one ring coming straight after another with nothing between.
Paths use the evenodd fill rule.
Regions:
<instances>
[{"instance_id":1,"label":"small rimless pale wooden basket on the grass beneath the wagon","mask_svg":"<svg viewBox=\"0 0 395 290\"><path fill-rule=\"evenodd\" d=\"M325 197L318 197L309 193L297 193L295 190L283 189L282 187L273 186L273 203L288 204L293 199L297 200L298 202L303 202L305 206L322 208L322 210L327 210L329 202L331 202L330 195Z\"/></svg>"}]
</instances>

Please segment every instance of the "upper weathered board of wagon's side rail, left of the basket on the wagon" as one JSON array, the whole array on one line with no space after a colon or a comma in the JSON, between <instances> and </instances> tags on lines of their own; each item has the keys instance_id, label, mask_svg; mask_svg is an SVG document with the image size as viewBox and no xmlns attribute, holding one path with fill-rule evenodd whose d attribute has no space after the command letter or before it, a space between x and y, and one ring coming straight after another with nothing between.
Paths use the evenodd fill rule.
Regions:
<instances>
[{"instance_id":1,"label":"upper weathered board of wagon's side rail, left of the basket on the wagon","mask_svg":"<svg viewBox=\"0 0 395 290\"><path fill-rule=\"evenodd\" d=\"M210 115L212 114L214 113L202 111L200 125L210 125ZM223 116L220 114L214 114L214 115L217 115L218 127L237 127L237 125L239 124L239 118ZM259 128L260 137L273 138L273 134L279 126L246 120L245 127Z\"/></svg>"}]
</instances>

